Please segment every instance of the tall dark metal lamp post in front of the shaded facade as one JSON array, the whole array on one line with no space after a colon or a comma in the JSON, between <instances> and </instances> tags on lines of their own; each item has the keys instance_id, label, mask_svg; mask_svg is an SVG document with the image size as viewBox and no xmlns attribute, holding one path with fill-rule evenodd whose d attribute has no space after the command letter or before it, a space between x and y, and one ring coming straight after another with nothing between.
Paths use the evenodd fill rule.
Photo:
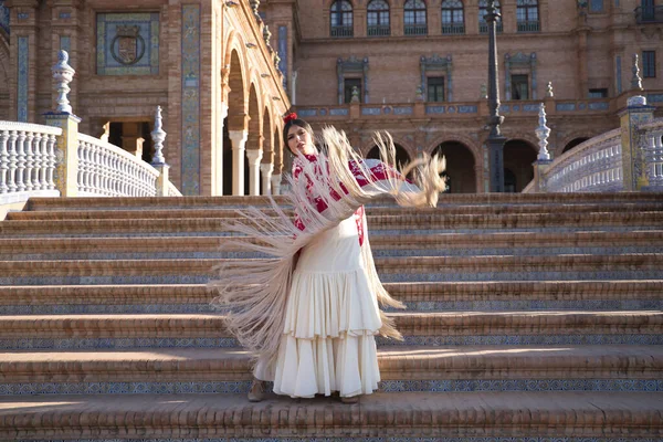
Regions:
<instances>
[{"instance_id":1,"label":"tall dark metal lamp post in front of the shaded facade","mask_svg":"<svg viewBox=\"0 0 663 442\"><path fill-rule=\"evenodd\" d=\"M488 170L491 171L491 192L504 192L504 143L499 125L504 117L499 115L499 83L497 80L497 18L495 0L487 0L486 23L488 25Z\"/></svg>"}]
</instances>

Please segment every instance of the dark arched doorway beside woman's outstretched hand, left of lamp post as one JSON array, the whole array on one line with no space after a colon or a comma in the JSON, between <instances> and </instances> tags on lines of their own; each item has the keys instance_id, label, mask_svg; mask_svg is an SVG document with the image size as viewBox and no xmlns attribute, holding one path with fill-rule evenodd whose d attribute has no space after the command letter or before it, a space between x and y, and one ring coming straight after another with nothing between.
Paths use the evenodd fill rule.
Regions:
<instances>
[{"instance_id":1,"label":"dark arched doorway beside woman's outstretched hand, left of lamp post","mask_svg":"<svg viewBox=\"0 0 663 442\"><path fill-rule=\"evenodd\" d=\"M476 193L474 155L467 146L459 141L444 141L433 150L433 156L446 159L446 193Z\"/></svg>"}]
</instances>

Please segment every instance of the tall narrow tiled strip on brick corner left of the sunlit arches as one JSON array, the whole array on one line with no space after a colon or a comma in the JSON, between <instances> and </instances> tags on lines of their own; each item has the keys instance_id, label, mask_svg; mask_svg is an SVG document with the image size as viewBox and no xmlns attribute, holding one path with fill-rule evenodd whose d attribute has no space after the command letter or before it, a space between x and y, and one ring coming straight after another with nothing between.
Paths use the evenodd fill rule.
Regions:
<instances>
[{"instance_id":1,"label":"tall narrow tiled strip on brick corner left of the sunlit arches","mask_svg":"<svg viewBox=\"0 0 663 442\"><path fill-rule=\"evenodd\" d=\"M200 193L200 4L182 4L182 194Z\"/></svg>"}]
</instances>

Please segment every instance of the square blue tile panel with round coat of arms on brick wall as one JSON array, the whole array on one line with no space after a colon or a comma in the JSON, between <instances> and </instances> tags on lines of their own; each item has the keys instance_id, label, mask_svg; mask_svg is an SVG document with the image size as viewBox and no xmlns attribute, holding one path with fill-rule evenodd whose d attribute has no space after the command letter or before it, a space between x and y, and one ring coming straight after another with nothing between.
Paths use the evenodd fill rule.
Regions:
<instances>
[{"instance_id":1,"label":"square blue tile panel with round coat of arms on brick wall","mask_svg":"<svg viewBox=\"0 0 663 442\"><path fill-rule=\"evenodd\" d=\"M159 13L97 14L97 75L159 73Z\"/></svg>"}]
</instances>

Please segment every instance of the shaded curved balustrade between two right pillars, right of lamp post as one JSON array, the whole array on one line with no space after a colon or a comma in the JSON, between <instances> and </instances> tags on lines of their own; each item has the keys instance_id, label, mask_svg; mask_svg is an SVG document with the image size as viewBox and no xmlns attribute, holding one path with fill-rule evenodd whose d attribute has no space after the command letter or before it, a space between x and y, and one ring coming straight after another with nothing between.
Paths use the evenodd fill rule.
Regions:
<instances>
[{"instance_id":1,"label":"shaded curved balustrade between two right pillars, right of lamp post","mask_svg":"<svg viewBox=\"0 0 663 442\"><path fill-rule=\"evenodd\" d=\"M548 192L622 190L621 129L588 139L567 151L550 164L544 178Z\"/></svg>"}]
</instances>

